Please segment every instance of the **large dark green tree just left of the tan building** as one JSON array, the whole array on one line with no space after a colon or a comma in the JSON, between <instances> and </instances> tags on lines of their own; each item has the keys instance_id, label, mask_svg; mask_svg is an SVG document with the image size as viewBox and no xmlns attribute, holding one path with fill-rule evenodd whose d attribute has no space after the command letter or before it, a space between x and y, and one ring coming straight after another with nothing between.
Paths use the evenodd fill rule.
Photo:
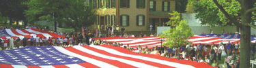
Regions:
<instances>
[{"instance_id":1,"label":"large dark green tree just left of the tan building","mask_svg":"<svg viewBox=\"0 0 256 68\"><path fill-rule=\"evenodd\" d=\"M59 27L62 23L66 23L75 27L74 29L80 29L83 24L91 23L89 20L94 19L90 18L93 14L89 13L91 8L85 7L85 0L30 0L25 4L29 7L26 11L29 22L37 20L54 22L55 31L57 31L57 23Z\"/></svg>"}]
</instances>

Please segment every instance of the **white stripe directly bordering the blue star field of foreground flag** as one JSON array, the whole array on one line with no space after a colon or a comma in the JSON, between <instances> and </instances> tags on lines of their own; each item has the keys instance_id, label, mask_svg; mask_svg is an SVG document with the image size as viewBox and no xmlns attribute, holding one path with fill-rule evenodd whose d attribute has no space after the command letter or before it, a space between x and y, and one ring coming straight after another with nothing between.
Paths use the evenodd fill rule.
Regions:
<instances>
[{"instance_id":1,"label":"white stripe directly bordering the blue star field of foreground flag","mask_svg":"<svg viewBox=\"0 0 256 68\"><path fill-rule=\"evenodd\" d=\"M77 57L77 58L80 58L80 59L83 60L83 61L86 61L86 62L91 63L91 64L93 64L93 65L96 65L96 66L98 66L98 67L117 68L117 67L115 67L115 66L113 66L113 65L110 65L110 64L108 64L108 63L104 63L104 62L102 62L102 61L98 61L98 60L95 60L95 59L93 59L93 58L89 58L89 57L86 57L86 56L81 56L80 54L76 54L76 53L74 53L74 52L70 52L70 51L68 51L68 50L66 50L66 49L64 49L64 48L61 48L61 47L54 46L54 48L55 48L56 50L58 50L59 52L63 53L63 54L67 54L67 55L69 55L69 56L75 56L75 57Z\"/></svg>"}]
</instances>

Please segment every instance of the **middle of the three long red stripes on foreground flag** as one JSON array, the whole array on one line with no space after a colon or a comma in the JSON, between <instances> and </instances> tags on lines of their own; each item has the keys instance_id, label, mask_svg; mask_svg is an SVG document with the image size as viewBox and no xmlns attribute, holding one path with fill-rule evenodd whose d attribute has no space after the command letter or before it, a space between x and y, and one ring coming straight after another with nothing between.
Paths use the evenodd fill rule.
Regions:
<instances>
[{"instance_id":1,"label":"middle of the three long red stripes on foreground flag","mask_svg":"<svg viewBox=\"0 0 256 68\"><path fill-rule=\"evenodd\" d=\"M127 56L119 56L119 55L116 55L116 54L111 54L109 52L106 52L104 50L98 50L96 48L91 48L89 46L83 46L84 48L86 49L89 49L89 50L93 50L94 52L98 52L100 54L104 54L104 55L107 55L107 56L113 56L113 57L117 57L117 58L123 58L123 59L126 59L126 60L130 60L130 61L135 61L135 62L139 62L139 63L145 63L147 65L152 65L154 67L169 67L167 65L162 65L162 64L159 64L159 63L155 63L155 62L152 62L152 61L144 61L144 60L141 60L141 59L138 59L138 58L130 58L130 57L127 57Z\"/></svg>"}]
</instances>

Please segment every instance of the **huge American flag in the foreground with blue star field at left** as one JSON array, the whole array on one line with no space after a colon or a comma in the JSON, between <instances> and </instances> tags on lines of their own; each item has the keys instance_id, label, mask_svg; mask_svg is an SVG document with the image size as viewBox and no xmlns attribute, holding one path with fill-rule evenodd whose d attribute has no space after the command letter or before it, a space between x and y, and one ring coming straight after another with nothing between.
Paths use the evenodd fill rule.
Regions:
<instances>
[{"instance_id":1,"label":"huge American flag in the foreground with blue star field at left","mask_svg":"<svg viewBox=\"0 0 256 68\"><path fill-rule=\"evenodd\" d=\"M124 48L109 45L28 46L0 51L1 68L211 68L205 63L177 60L152 54L137 54Z\"/></svg>"}]
</instances>

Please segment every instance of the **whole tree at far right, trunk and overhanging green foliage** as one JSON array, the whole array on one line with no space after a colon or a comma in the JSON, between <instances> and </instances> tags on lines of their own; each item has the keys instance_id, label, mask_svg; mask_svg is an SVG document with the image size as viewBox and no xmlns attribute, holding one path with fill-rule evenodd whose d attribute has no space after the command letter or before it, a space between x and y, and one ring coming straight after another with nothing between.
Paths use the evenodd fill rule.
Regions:
<instances>
[{"instance_id":1,"label":"whole tree at far right, trunk and overhanging green foliage","mask_svg":"<svg viewBox=\"0 0 256 68\"><path fill-rule=\"evenodd\" d=\"M204 3L200 3L200 1ZM241 52L240 52L240 67L241 68L249 68L250 67L250 42L251 42L251 27L256 29L255 27L255 11L256 7L253 7L255 4L255 0L200 0L195 6L198 14L201 18L199 20L211 20L212 22L204 22L205 24L219 24L219 25L227 25L234 24L240 28L241 36L240 36L240 44L241 44ZM209 4L210 3L210 4ZM212 5L212 6L211 6ZM203 7L203 8L201 8ZM199 10L197 8L201 8ZM210 13L210 12L213 12ZM209 14L208 14L209 13ZM215 14L215 15L214 15ZM198 15L197 15L198 16ZM204 16L204 18L203 18ZM210 16L214 16L214 20L208 18ZM217 22L220 20L220 22Z\"/></svg>"}]
</instances>

